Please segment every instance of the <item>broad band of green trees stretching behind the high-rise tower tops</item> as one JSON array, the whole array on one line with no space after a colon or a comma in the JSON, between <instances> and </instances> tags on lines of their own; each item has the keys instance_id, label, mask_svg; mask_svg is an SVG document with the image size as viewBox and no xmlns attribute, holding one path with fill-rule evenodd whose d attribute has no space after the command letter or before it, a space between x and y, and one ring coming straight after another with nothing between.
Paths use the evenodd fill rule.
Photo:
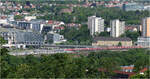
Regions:
<instances>
[{"instance_id":1,"label":"broad band of green trees stretching behind the high-rise tower tops","mask_svg":"<svg viewBox=\"0 0 150 79\"><path fill-rule=\"evenodd\" d=\"M43 6L39 9L39 12L47 11L45 16L39 16L40 19L46 20L60 20L65 23L75 22L84 23L87 22L87 17L96 15L105 19L106 26L109 26L110 20L120 19L126 21L126 24L140 24L143 17L149 16L149 11L123 11L119 8L105 8L103 6L97 7L75 7L73 12L60 13L65 6ZM42 10L42 11L40 11ZM45 13L45 12L44 12Z\"/></svg>"}]
</instances>

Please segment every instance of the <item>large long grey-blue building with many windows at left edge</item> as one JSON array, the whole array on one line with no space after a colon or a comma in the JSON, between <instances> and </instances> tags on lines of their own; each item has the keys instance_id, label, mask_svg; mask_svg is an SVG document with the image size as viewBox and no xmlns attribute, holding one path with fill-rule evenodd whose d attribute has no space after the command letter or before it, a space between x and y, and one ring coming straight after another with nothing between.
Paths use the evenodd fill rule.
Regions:
<instances>
[{"instance_id":1,"label":"large long grey-blue building with many windows at left edge","mask_svg":"<svg viewBox=\"0 0 150 79\"><path fill-rule=\"evenodd\" d=\"M2 29L0 35L8 41L8 45L40 46L44 44L42 34L34 32L25 32L14 29Z\"/></svg>"}]
</instances>

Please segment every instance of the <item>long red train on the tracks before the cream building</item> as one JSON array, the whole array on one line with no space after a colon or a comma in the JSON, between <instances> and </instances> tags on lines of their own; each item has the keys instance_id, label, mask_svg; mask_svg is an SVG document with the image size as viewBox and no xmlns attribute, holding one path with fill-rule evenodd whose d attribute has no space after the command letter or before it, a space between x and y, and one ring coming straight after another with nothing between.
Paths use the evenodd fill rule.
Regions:
<instances>
[{"instance_id":1,"label":"long red train on the tracks before the cream building","mask_svg":"<svg viewBox=\"0 0 150 79\"><path fill-rule=\"evenodd\" d=\"M134 49L142 48L141 46L110 46L110 47L99 47L99 48L72 48L64 49L64 51L80 51L80 50L115 50L115 49Z\"/></svg>"}]
</instances>

